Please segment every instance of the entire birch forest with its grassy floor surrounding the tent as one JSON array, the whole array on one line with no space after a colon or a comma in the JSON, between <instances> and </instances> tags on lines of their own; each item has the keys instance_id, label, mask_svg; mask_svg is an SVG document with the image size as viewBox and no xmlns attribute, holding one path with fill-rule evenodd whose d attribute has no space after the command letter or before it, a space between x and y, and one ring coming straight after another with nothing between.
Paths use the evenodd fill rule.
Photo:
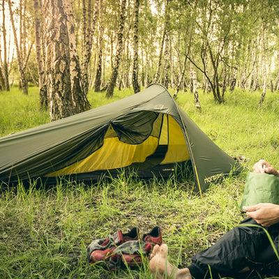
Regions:
<instances>
[{"instance_id":1,"label":"entire birch forest with its grassy floor surrounding the tent","mask_svg":"<svg viewBox=\"0 0 279 279\"><path fill-rule=\"evenodd\" d=\"M247 169L260 158L278 168L278 1L2 0L0 8L1 136L159 82ZM0 277L151 278L147 261L116 274L89 265L86 246L156 225L169 260L187 266L244 218L245 174L203 199L193 177L2 185Z\"/></svg>"}]
</instances>

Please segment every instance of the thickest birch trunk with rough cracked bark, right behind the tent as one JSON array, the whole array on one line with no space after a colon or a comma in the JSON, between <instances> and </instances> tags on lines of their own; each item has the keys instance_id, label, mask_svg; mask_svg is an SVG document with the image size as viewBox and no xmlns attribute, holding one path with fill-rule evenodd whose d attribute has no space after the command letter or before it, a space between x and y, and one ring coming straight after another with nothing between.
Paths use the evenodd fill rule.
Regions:
<instances>
[{"instance_id":1,"label":"thickest birch trunk with rough cracked bark, right behind the tent","mask_svg":"<svg viewBox=\"0 0 279 279\"><path fill-rule=\"evenodd\" d=\"M50 121L75 114L70 80L67 17L62 0L45 1L47 93Z\"/></svg>"}]
</instances>

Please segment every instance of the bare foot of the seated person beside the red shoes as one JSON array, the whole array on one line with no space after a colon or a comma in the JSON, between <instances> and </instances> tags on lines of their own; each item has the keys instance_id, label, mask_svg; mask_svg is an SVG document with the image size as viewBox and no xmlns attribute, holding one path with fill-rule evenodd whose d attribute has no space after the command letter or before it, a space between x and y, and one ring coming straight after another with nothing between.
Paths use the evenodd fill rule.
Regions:
<instances>
[{"instance_id":1,"label":"bare foot of the seated person beside the red shoes","mask_svg":"<svg viewBox=\"0 0 279 279\"><path fill-rule=\"evenodd\" d=\"M176 269L167 261L167 245L156 245L151 254L149 270L155 279L191 279L189 269Z\"/></svg>"}]
</instances>

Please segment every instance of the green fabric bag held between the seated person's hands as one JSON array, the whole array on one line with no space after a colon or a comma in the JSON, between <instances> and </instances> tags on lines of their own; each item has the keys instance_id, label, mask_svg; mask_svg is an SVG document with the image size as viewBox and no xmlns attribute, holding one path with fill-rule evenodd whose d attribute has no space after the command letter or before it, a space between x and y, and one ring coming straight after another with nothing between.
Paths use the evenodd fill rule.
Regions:
<instances>
[{"instance_id":1,"label":"green fabric bag held between the seated person's hands","mask_svg":"<svg viewBox=\"0 0 279 279\"><path fill-rule=\"evenodd\" d=\"M279 204L279 177L273 174L248 172L241 199L241 211L243 206L266 202Z\"/></svg>"}]
</instances>

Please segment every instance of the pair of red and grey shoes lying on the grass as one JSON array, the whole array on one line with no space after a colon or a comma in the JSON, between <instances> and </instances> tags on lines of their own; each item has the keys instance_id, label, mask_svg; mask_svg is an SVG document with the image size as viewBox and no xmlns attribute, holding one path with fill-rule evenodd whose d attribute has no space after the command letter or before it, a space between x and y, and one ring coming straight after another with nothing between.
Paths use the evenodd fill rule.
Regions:
<instances>
[{"instance_id":1,"label":"pair of red and grey shoes lying on the grass","mask_svg":"<svg viewBox=\"0 0 279 279\"><path fill-rule=\"evenodd\" d=\"M139 229L133 227L123 234L121 230L108 236L107 239L97 239L87 248L89 263L102 263L110 271L117 271L123 266L137 267L142 264L142 256L147 256L153 246L163 243L160 227L154 227L148 234L139 236Z\"/></svg>"}]
</instances>

